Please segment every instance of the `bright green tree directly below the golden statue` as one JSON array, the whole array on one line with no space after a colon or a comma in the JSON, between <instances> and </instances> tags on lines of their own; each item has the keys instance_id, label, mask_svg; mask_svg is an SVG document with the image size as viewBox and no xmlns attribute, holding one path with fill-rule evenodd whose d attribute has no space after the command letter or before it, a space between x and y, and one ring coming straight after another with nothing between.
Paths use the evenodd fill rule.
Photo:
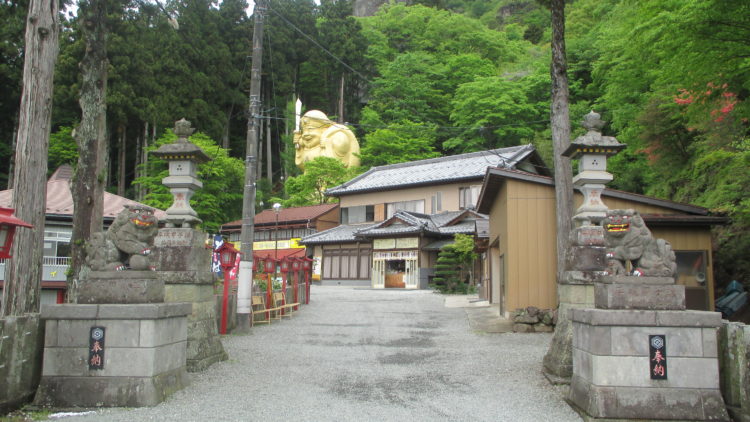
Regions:
<instances>
[{"instance_id":1,"label":"bright green tree directly below the golden statue","mask_svg":"<svg viewBox=\"0 0 750 422\"><path fill-rule=\"evenodd\" d=\"M341 161L331 157L317 157L305 163L305 172L287 179L284 188L288 199L284 207L302 207L335 202L336 198L325 196L328 188L340 185L354 176Z\"/></svg>"}]
</instances>

